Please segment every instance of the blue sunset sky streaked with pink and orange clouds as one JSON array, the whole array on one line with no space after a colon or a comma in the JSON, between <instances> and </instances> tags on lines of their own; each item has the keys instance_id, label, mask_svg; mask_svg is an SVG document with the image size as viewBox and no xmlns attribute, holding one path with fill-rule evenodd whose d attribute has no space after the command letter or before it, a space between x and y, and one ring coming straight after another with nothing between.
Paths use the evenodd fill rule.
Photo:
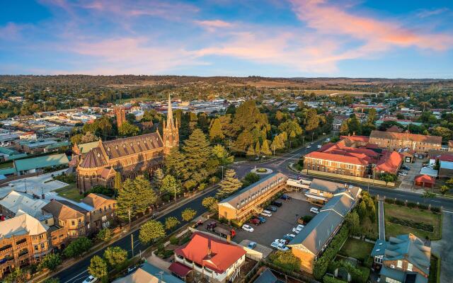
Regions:
<instances>
[{"instance_id":1,"label":"blue sunset sky streaked with pink and orange clouds","mask_svg":"<svg viewBox=\"0 0 453 283\"><path fill-rule=\"evenodd\" d=\"M0 74L453 78L451 0L21 0L0 7Z\"/></svg>"}]
</instances>

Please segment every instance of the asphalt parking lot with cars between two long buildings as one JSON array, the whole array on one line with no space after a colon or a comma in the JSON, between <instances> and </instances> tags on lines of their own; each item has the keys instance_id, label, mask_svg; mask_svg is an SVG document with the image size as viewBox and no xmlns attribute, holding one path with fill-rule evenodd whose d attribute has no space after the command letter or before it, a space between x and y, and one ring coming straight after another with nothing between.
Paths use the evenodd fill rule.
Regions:
<instances>
[{"instance_id":1,"label":"asphalt parking lot with cars between two long buildings","mask_svg":"<svg viewBox=\"0 0 453 283\"><path fill-rule=\"evenodd\" d=\"M301 194L301 192L299 192ZM282 238L286 233L292 233L292 228L297 226L297 219L304 215L312 215L310 207L312 204L303 200L297 200L294 197L291 201L279 200L282 207L277 208L271 217L266 217L266 222L258 226L250 224L255 231L247 232L237 229L236 237L233 241L241 243L243 240L250 240L260 243L263 246L270 246L276 238Z\"/></svg>"}]
</instances>

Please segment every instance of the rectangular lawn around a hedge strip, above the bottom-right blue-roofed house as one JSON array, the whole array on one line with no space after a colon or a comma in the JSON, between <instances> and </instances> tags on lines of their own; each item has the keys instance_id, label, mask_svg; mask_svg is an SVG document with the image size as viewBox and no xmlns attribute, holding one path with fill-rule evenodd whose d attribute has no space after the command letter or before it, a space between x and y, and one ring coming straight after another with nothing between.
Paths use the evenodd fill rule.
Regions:
<instances>
[{"instance_id":1,"label":"rectangular lawn around a hedge strip, above the bottom-right blue-roofed house","mask_svg":"<svg viewBox=\"0 0 453 283\"><path fill-rule=\"evenodd\" d=\"M385 214L385 236L389 238L390 236L398 236L401 234L413 233L419 238L440 238L440 224L441 216L438 214L432 214L428 211L422 211L418 209L413 209L410 207L400 207L396 204L384 204L384 214ZM426 224L432 224L434 226L434 232L430 233L428 231L423 231L415 229L412 227L401 226L398 224L393 224L389 222L388 217L394 216L399 219L413 220L418 222L423 222Z\"/></svg>"}]
</instances>

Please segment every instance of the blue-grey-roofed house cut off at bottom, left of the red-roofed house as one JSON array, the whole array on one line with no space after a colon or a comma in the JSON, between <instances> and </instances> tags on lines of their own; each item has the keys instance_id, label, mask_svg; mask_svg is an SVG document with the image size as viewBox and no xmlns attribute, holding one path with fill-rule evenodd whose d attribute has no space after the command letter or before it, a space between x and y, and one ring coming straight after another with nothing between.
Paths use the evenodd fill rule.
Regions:
<instances>
[{"instance_id":1,"label":"blue-grey-roofed house cut off at bottom, left of the red-roofed house","mask_svg":"<svg viewBox=\"0 0 453 283\"><path fill-rule=\"evenodd\" d=\"M115 283L183 283L184 281L161 270L155 265L144 262L131 275L114 281Z\"/></svg>"}]
</instances>

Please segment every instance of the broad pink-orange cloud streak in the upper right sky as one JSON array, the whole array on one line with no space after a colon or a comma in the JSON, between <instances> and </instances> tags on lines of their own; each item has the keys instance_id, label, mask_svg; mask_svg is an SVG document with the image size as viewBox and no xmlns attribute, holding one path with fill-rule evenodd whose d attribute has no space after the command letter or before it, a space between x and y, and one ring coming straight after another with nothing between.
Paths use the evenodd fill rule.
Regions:
<instances>
[{"instance_id":1,"label":"broad pink-orange cloud streak in the upper right sky","mask_svg":"<svg viewBox=\"0 0 453 283\"><path fill-rule=\"evenodd\" d=\"M421 33L404 28L397 21L356 16L343 8L328 4L325 0L290 1L297 17L309 28L326 35L348 35L363 40L365 50L387 50L392 45L447 50L453 43L451 35Z\"/></svg>"}]
</instances>

